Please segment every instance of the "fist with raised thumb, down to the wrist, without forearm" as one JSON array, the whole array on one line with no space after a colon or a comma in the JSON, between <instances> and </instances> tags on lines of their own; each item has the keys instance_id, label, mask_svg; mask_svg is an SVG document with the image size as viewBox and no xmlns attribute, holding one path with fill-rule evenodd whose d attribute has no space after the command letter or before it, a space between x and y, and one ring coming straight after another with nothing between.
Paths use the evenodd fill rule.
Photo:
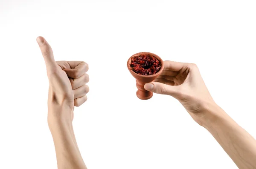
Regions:
<instances>
[{"instance_id":1,"label":"fist with raised thumb, down to the wrist, without forearm","mask_svg":"<svg viewBox=\"0 0 256 169\"><path fill-rule=\"evenodd\" d=\"M89 81L88 65L82 61L57 61L43 37L37 38L47 68L49 79L48 122L52 118L72 123L74 106L87 100Z\"/></svg>"}]
</instances>

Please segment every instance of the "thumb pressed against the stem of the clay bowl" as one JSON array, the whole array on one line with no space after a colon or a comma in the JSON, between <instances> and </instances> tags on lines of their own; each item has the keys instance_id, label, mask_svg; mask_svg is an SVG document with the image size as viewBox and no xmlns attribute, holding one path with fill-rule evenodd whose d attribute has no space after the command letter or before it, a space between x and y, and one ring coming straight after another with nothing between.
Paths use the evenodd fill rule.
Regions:
<instances>
[{"instance_id":1,"label":"thumb pressed against the stem of the clay bowl","mask_svg":"<svg viewBox=\"0 0 256 169\"><path fill-rule=\"evenodd\" d=\"M169 86L159 82L146 83L144 85L144 88L150 92L154 92L162 95L171 95L173 97L176 97L178 94L177 86Z\"/></svg>"}]
</instances>

